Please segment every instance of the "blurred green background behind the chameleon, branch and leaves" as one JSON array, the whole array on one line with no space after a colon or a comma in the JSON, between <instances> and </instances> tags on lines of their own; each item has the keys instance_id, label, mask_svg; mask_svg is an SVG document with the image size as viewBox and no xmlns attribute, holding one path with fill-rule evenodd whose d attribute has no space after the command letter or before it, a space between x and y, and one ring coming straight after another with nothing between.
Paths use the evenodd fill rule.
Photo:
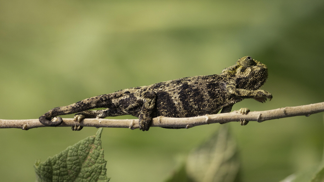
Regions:
<instances>
[{"instance_id":1,"label":"blurred green background behind the chameleon, branch and leaves","mask_svg":"<svg viewBox=\"0 0 324 182\"><path fill-rule=\"evenodd\" d=\"M247 55L268 66L262 89L273 99L245 99L233 110L323 102L323 48L322 0L2 0L0 119L37 119L51 108L120 89L219 74ZM228 125L243 182L279 181L322 158L322 113ZM105 128L107 176L112 182L162 182L218 127ZM36 159L96 131L1 129L1 181L34 181Z\"/></svg>"}]
</instances>

